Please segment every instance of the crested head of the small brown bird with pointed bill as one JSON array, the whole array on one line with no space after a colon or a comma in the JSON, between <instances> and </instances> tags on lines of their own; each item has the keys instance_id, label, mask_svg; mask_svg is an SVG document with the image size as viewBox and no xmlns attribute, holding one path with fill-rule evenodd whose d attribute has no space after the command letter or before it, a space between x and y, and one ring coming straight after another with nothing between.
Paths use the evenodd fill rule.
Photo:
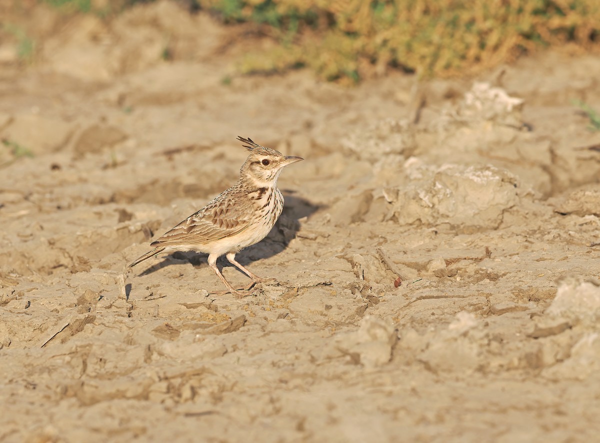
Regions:
<instances>
[{"instance_id":1,"label":"crested head of the small brown bird with pointed bill","mask_svg":"<svg viewBox=\"0 0 600 443\"><path fill-rule=\"evenodd\" d=\"M240 176L251 179L258 187L275 185L284 166L304 160L302 157L286 156L275 149L257 145L252 139L238 137L238 140L250 152L240 170Z\"/></svg>"}]
</instances>

